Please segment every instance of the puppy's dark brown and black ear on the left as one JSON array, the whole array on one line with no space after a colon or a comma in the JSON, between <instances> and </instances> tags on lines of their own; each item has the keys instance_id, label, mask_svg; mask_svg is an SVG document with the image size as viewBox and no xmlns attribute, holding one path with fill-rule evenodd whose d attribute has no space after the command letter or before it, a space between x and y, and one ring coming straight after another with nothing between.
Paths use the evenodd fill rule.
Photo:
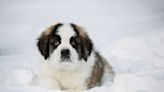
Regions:
<instances>
[{"instance_id":1,"label":"puppy's dark brown and black ear on the left","mask_svg":"<svg viewBox=\"0 0 164 92\"><path fill-rule=\"evenodd\" d=\"M50 45L51 35L55 33L58 27L61 25L62 25L61 23L58 23L53 26L50 26L41 34L41 36L38 39L38 42L37 42L38 49L41 55L43 55L45 59L47 59L50 55L49 45Z\"/></svg>"}]
</instances>

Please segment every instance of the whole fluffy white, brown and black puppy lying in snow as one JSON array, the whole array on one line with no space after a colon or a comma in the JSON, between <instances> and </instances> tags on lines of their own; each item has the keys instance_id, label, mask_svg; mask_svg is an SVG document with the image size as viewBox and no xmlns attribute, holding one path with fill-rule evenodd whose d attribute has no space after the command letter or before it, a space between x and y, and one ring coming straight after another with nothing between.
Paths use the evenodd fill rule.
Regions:
<instances>
[{"instance_id":1,"label":"whole fluffy white, brown and black puppy lying in snow","mask_svg":"<svg viewBox=\"0 0 164 92\"><path fill-rule=\"evenodd\" d=\"M78 25L58 23L49 27L39 37L37 46L45 59L37 81L40 86L85 90L113 80L111 66Z\"/></svg>"}]
</instances>

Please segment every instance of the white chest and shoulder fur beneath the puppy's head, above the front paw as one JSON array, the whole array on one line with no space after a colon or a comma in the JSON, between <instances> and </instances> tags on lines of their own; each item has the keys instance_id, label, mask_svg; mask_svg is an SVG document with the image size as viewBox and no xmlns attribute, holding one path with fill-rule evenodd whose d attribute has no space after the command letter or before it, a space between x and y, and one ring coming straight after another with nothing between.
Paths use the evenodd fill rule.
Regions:
<instances>
[{"instance_id":1,"label":"white chest and shoulder fur beneath the puppy's head, above the front paw","mask_svg":"<svg viewBox=\"0 0 164 92\"><path fill-rule=\"evenodd\" d=\"M55 69L49 61L42 62L40 66L40 75L42 78L52 78L58 82L61 89L87 89L87 79L91 76L94 57L87 62L79 61L79 65L73 70Z\"/></svg>"}]
</instances>

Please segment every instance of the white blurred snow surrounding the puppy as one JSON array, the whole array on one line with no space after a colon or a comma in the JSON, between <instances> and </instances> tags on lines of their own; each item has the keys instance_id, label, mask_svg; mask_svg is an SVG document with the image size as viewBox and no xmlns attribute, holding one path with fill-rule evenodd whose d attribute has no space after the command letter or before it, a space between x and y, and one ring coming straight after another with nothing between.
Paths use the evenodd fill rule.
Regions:
<instances>
[{"instance_id":1,"label":"white blurred snow surrounding the puppy","mask_svg":"<svg viewBox=\"0 0 164 92\"><path fill-rule=\"evenodd\" d=\"M51 92L30 82L36 39L58 21L84 26L116 72L87 92L164 92L163 0L0 0L0 92Z\"/></svg>"}]
</instances>

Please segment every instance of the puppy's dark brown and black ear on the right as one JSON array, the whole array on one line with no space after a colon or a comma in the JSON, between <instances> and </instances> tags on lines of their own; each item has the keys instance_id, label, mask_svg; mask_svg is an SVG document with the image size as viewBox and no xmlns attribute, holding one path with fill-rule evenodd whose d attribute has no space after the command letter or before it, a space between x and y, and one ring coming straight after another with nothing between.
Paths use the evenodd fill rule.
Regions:
<instances>
[{"instance_id":1,"label":"puppy's dark brown and black ear on the right","mask_svg":"<svg viewBox=\"0 0 164 92\"><path fill-rule=\"evenodd\" d=\"M88 56L90 56L93 50L92 40L89 38L89 36L87 35L87 32L84 30L83 27L75 25L73 23L71 23L71 25L73 26L74 30L78 34L81 41L80 42L81 43L81 57L85 61L87 61Z\"/></svg>"}]
</instances>

